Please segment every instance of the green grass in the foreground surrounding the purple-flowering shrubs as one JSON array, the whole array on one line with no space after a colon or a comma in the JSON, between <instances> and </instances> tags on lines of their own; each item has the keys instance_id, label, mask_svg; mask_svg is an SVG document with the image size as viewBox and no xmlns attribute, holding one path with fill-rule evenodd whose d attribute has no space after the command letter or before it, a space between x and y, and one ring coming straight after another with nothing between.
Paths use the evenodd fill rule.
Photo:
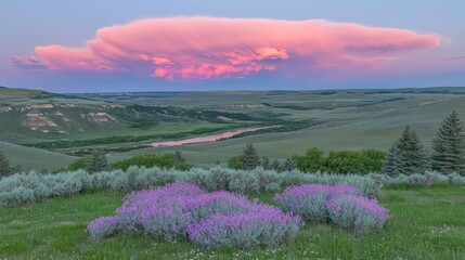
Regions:
<instances>
[{"instance_id":1,"label":"green grass in the foreground surrounding the purple-flowering shrubs","mask_svg":"<svg viewBox=\"0 0 465 260\"><path fill-rule=\"evenodd\" d=\"M260 195L272 203L272 194ZM385 190L379 202L392 218L379 232L354 237L332 224L307 223L277 248L202 249L117 234L91 242L85 229L109 216L122 195L112 192L0 207L0 258L7 259L464 259L465 187Z\"/></svg>"}]
</instances>

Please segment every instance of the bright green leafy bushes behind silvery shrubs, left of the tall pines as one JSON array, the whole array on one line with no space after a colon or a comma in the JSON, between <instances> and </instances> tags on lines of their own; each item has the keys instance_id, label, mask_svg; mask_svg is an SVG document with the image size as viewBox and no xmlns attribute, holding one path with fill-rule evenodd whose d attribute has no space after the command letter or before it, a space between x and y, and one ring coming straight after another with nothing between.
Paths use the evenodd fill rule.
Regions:
<instances>
[{"instance_id":1,"label":"bright green leafy bushes behind silvery shrubs, left of the tall pines","mask_svg":"<svg viewBox=\"0 0 465 260\"><path fill-rule=\"evenodd\" d=\"M297 169L306 172L324 171L339 174L366 174L380 171L386 158L386 153L378 150L339 151L330 152L327 157L323 155L324 151L312 147L303 156L293 156L293 160Z\"/></svg>"}]
</instances>

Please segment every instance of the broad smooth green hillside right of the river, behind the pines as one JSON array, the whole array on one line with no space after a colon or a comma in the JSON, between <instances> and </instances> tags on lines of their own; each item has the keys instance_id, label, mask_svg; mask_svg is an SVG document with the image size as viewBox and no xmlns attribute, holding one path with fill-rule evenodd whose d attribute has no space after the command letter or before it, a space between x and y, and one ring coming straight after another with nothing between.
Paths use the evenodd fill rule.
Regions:
<instances>
[{"instance_id":1,"label":"broad smooth green hillside right of the river, behind the pines","mask_svg":"<svg viewBox=\"0 0 465 260\"><path fill-rule=\"evenodd\" d=\"M296 153L303 153L311 146L319 146L325 151L362 148L387 151L400 136L405 125L411 125L418 132L425 146L430 147L436 130L452 110L456 110L465 120L465 88L387 90L380 93L371 90L336 91L333 94L325 92L324 95L318 93L255 92L247 95L250 102L251 100L266 101L269 106L241 109L249 114L281 113L284 114L282 118L288 120L312 118L322 122L308 129L250 135L216 143L152 147L131 151L120 156L179 150L192 161L214 164L217 159L225 161L229 156L241 153L242 147L248 142L256 144L260 154L272 158L285 158ZM208 94L206 93L207 100L217 100L216 103L210 102L210 106L220 106L219 100L223 99L221 98L223 95L228 95L230 101L235 101L237 104L246 96L228 92L221 95L212 93L214 99ZM250 98L253 95L255 98ZM258 104L247 101L243 103ZM276 108L276 106L286 108Z\"/></svg>"}]
</instances>

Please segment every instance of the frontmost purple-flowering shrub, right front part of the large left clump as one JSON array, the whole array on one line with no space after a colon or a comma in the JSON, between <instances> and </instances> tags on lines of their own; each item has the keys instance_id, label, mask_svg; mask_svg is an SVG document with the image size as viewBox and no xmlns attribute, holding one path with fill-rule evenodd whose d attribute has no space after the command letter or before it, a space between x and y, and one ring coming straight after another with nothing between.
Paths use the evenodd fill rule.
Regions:
<instances>
[{"instance_id":1,"label":"frontmost purple-flowering shrub, right front part of the large left clump","mask_svg":"<svg viewBox=\"0 0 465 260\"><path fill-rule=\"evenodd\" d=\"M302 222L275 207L256 205L247 213L214 214L188 227L189 238L202 246L258 247L290 242Z\"/></svg>"}]
</instances>

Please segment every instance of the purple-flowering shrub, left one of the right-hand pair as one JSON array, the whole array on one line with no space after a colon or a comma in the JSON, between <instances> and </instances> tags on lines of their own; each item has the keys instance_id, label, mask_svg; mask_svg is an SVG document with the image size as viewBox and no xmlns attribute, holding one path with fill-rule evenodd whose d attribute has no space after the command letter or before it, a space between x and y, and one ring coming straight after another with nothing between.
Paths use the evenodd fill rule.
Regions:
<instances>
[{"instance_id":1,"label":"purple-flowering shrub, left one of the right-hand pair","mask_svg":"<svg viewBox=\"0 0 465 260\"><path fill-rule=\"evenodd\" d=\"M321 184L303 184L289 186L283 194L276 194L274 200L285 212L294 212L306 220L327 221L326 203L334 196L343 194L360 194L352 186L326 186Z\"/></svg>"}]
</instances>

